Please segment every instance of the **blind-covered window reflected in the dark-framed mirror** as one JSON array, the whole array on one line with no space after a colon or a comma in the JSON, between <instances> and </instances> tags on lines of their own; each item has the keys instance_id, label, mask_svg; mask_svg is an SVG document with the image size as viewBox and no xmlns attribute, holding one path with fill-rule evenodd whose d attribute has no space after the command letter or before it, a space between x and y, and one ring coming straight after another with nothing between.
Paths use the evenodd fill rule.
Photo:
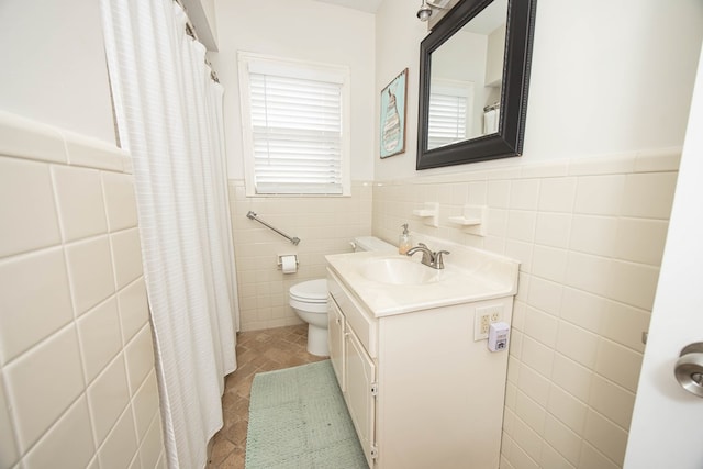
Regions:
<instances>
[{"instance_id":1,"label":"blind-covered window reflected in the dark-framed mirror","mask_svg":"<svg viewBox=\"0 0 703 469\"><path fill-rule=\"evenodd\" d=\"M429 94L427 148L437 148L466 139L469 129L468 110L473 102L472 83L433 83Z\"/></svg>"}]
</instances>

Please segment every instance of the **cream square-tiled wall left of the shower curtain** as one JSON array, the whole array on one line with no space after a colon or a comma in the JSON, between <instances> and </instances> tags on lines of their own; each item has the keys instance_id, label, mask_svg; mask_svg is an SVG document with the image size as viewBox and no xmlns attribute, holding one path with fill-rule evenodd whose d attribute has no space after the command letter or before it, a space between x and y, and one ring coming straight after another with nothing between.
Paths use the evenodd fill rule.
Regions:
<instances>
[{"instance_id":1,"label":"cream square-tiled wall left of the shower curtain","mask_svg":"<svg viewBox=\"0 0 703 469\"><path fill-rule=\"evenodd\" d=\"M0 136L0 469L158 467L127 156L7 113Z\"/></svg>"}]
</instances>

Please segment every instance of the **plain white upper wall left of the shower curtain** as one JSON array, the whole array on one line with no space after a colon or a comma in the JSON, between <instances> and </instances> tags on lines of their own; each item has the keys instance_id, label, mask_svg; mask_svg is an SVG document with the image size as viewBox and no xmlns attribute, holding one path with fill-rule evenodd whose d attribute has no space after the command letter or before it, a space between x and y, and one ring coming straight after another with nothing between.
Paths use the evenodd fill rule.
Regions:
<instances>
[{"instance_id":1,"label":"plain white upper wall left of the shower curtain","mask_svg":"<svg viewBox=\"0 0 703 469\"><path fill-rule=\"evenodd\" d=\"M115 142L100 2L0 2L0 109Z\"/></svg>"}]
</instances>

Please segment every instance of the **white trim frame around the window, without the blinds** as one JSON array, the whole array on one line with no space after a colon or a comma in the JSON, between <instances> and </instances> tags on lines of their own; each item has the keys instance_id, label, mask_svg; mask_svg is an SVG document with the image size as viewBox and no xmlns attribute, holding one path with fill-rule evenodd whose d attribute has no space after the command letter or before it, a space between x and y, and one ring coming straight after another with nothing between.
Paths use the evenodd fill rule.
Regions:
<instances>
[{"instance_id":1,"label":"white trim frame around the window, without the blinds","mask_svg":"<svg viewBox=\"0 0 703 469\"><path fill-rule=\"evenodd\" d=\"M352 138L350 138L350 71L347 66L281 58L239 51L239 109L242 113L242 146L244 158L245 193L247 197L349 197L352 196ZM306 79L322 79L342 85L342 194L324 193L257 193L254 177L254 142L252 130L252 108L249 99L249 70L271 72L282 70Z\"/></svg>"}]
</instances>

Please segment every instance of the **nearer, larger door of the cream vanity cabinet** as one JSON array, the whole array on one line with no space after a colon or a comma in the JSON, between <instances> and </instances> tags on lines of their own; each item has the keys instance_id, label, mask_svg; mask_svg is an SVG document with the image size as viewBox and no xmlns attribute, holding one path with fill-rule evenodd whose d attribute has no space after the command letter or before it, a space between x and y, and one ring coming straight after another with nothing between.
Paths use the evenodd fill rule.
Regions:
<instances>
[{"instance_id":1,"label":"nearer, larger door of the cream vanity cabinet","mask_svg":"<svg viewBox=\"0 0 703 469\"><path fill-rule=\"evenodd\" d=\"M369 467L373 467L372 449L376 436L376 364L368 356L359 339L349 332L346 337L347 407L359 436Z\"/></svg>"}]
</instances>

